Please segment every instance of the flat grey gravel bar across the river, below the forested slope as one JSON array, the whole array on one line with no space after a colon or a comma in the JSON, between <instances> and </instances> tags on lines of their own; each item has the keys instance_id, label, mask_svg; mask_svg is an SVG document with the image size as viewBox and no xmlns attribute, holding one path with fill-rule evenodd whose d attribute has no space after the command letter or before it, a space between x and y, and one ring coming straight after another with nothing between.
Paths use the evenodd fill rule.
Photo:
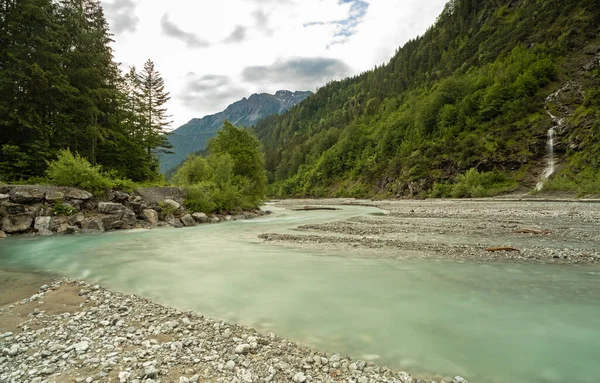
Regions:
<instances>
[{"instance_id":1,"label":"flat grey gravel bar across the river, below the forested slope","mask_svg":"<svg viewBox=\"0 0 600 383\"><path fill-rule=\"evenodd\" d=\"M284 200L274 206L365 205L380 215L263 233L267 243L386 258L600 263L600 203L563 200Z\"/></svg>"}]
</instances>

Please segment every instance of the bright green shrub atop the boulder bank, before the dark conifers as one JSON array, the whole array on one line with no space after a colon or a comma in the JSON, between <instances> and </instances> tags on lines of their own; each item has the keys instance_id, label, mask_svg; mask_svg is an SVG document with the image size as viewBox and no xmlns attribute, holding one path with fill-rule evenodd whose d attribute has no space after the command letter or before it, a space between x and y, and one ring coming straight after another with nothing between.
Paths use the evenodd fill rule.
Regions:
<instances>
[{"instance_id":1,"label":"bright green shrub atop the boulder bank, before the dark conifers","mask_svg":"<svg viewBox=\"0 0 600 383\"><path fill-rule=\"evenodd\" d=\"M48 178L54 185L75 186L92 194L102 194L115 187L115 183L102 167L92 165L79 154L61 150L55 161L48 163Z\"/></svg>"}]
</instances>

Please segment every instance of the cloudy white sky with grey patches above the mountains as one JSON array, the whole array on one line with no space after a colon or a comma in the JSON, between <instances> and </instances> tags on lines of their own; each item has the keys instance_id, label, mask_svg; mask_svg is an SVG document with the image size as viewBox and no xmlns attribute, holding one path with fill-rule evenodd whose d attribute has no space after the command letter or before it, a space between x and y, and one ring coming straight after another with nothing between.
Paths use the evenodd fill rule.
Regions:
<instances>
[{"instance_id":1,"label":"cloudy white sky with grey patches above the mountains","mask_svg":"<svg viewBox=\"0 0 600 383\"><path fill-rule=\"evenodd\" d=\"M446 0L102 0L124 71L154 61L175 129L253 93L387 63Z\"/></svg>"}]
</instances>

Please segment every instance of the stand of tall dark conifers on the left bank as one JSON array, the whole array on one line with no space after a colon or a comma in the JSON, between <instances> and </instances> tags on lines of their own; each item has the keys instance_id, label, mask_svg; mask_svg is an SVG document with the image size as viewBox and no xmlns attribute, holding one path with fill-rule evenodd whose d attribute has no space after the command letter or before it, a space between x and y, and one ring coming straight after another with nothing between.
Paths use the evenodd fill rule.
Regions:
<instances>
[{"instance_id":1,"label":"stand of tall dark conifers on the left bank","mask_svg":"<svg viewBox=\"0 0 600 383\"><path fill-rule=\"evenodd\" d=\"M122 73L111 42L98 0L0 0L0 181L43 183L64 150L112 179L160 178L169 94L151 60Z\"/></svg>"}]
</instances>

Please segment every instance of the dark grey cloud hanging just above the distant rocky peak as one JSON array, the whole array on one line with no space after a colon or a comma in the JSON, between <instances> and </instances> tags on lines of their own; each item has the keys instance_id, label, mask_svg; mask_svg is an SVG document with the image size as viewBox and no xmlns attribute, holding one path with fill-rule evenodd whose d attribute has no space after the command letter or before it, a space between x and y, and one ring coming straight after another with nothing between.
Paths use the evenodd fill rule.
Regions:
<instances>
[{"instance_id":1,"label":"dark grey cloud hanging just above the distant rocky peak","mask_svg":"<svg viewBox=\"0 0 600 383\"><path fill-rule=\"evenodd\" d=\"M249 82L314 84L348 76L351 72L351 68L338 59L292 58L277 60L272 65L247 67L242 77Z\"/></svg>"}]
</instances>

